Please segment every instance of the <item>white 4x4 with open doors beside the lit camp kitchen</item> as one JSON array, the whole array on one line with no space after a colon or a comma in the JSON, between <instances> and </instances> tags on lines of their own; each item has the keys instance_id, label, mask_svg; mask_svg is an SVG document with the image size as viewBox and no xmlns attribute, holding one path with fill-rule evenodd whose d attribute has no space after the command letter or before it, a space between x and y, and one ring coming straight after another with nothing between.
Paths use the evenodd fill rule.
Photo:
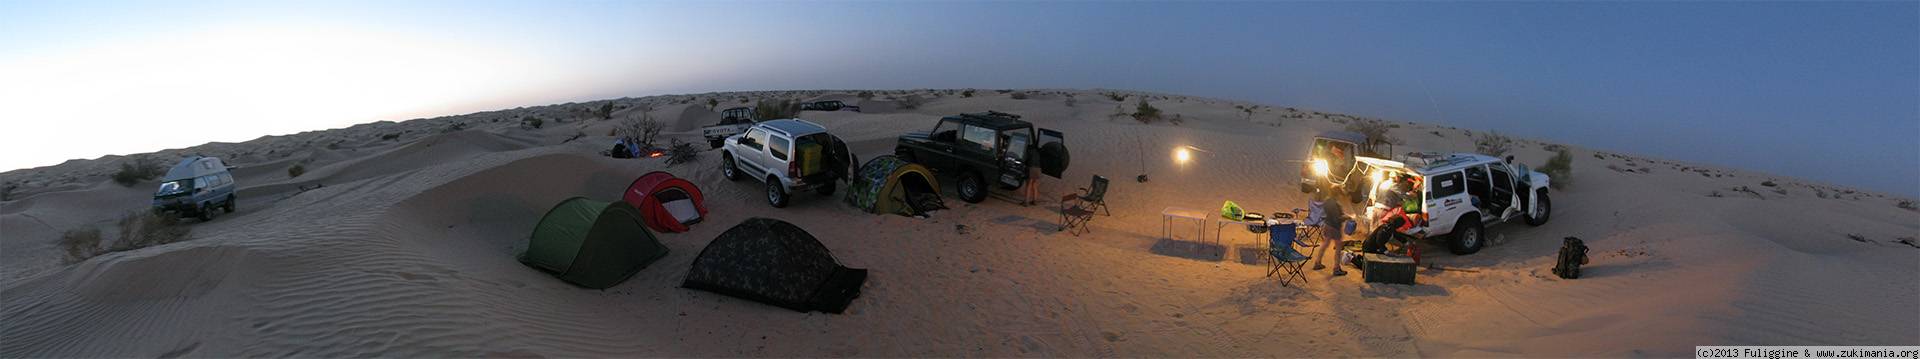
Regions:
<instances>
[{"instance_id":1,"label":"white 4x4 with open doors beside the lit camp kitchen","mask_svg":"<svg viewBox=\"0 0 1920 359\"><path fill-rule=\"evenodd\" d=\"M1417 238L1444 238L1448 250L1459 255L1480 251L1486 246L1486 227L1524 219L1526 225L1546 225L1553 215L1553 200L1548 196L1548 175L1526 169L1526 165L1501 161L1478 154L1415 154L1407 165L1402 161L1361 157L1367 165L1367 215L1363 221L1379 225L1379 213L1392 211L1386 198L1394 188L1411 188L1417 196L1404 196L1404 209L1413 225L1404 234Z\"/></svg>"}]
</instances>

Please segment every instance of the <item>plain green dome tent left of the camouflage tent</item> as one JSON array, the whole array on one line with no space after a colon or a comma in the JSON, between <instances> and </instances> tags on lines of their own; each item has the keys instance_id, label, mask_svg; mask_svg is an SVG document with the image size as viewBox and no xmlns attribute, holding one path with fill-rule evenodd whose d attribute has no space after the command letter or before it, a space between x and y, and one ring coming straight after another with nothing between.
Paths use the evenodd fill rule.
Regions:
<instances>
[{"instance_id":1,"label":"plain green dome tent left of the camouflage tent","mask_svg":"<svg viewBox=\"0 0 1920 359\"><path fill-rule=\"evenodd\" d=\"M553 205L520 253L520 263L561 280L605 290L666 255L647 225L626 202L566 198Z\"/></svg>"}]
</instances>

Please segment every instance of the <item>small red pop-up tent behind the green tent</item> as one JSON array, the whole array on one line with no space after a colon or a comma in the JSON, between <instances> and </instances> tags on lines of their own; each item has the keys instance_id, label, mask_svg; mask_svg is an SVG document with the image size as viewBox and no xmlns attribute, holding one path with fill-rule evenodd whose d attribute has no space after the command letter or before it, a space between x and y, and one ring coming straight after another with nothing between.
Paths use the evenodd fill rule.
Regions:
<instances>
[{"instance_id":1,"label":"small red pop-up tent behind the green tent","mask_svg":"<svg viewBox=\"0 0 1920 359\"><path fill-rule=\"evenodd\" d=\"M639 209L647 228L659 232L685 232L687 225L707 217L707 196L701 196L701 188L664 171L634 179L622 200Z\"/></svg>"}]
</instances>

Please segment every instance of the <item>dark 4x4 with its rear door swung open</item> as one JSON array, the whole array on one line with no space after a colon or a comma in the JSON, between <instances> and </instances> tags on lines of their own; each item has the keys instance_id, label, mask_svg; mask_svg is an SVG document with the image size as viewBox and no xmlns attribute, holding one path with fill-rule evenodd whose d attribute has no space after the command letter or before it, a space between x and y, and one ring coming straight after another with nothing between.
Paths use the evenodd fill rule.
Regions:
<instances>
[{"instance_id":1,"label":"dark 4x4 with its rear door swung open","mask_svg":"<svg viewBox=\"0 0 1920 359\"><path fill-rule=\"evenodd\" d=\"M1014 190L1027 182L1027 165L1060 179L1071 159L1066 134L1000 111L948 115L933 131L900 134L893 156L958 177L968 203L987 200L987 180Z\"/></svg>"}]
</instances>

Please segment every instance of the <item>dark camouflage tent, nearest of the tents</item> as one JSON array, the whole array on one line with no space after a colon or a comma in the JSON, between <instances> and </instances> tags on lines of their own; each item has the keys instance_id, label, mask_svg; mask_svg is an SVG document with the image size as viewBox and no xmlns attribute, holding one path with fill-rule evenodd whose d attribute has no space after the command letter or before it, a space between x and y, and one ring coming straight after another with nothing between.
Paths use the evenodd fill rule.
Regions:
<instances>
[{"instance_id":1,"label":"dark camouflage tent, nearest of the tents","mask_svg":"<svg viewBox=\"0 0 1920 359\"><path fill-rule=\"evenodd\" d=\"M849 269L801 227L753 217L701 250L682 288L795 311L841 313L860 296L866 269Z\"/></svg>"}]
</instances>

